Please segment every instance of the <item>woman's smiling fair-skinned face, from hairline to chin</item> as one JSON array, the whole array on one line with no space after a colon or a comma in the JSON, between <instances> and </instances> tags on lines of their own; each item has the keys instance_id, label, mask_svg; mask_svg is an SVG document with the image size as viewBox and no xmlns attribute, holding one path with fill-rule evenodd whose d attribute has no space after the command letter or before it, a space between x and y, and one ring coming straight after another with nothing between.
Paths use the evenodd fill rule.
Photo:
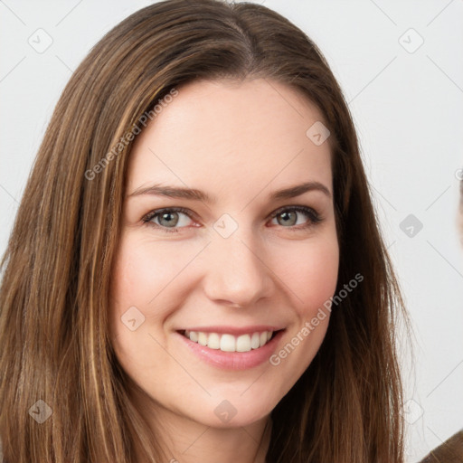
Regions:
<instances>
[{"instance_id":1,"label":"woman's smiling fair-skinned face, from hairline to chin","mask_svg":"<svg viewBox=\"0 0 463 463\"><path fill-rule=\"evenodd\" d=\"M339 260L329 139L317 108L272 80L195 81L166 101L130 154L111 339L147 408L242 426L269 414L326 334Z\"/></svg>"}]
</instances>

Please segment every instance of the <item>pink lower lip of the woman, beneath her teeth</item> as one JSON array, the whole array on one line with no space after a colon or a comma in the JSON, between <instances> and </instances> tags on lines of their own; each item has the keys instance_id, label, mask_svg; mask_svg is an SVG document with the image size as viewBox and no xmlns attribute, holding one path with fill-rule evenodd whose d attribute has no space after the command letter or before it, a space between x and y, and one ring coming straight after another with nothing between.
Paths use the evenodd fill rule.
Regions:
<instances>
[{"instance_id":1,"label":"pink lower lip of the woman, beneath her teeth","mask_svg":"<svg viewBox=\"0 0 463 463\"><path fill-rule=\"evenodd\" d=\"M251 349L248 352L223 352L220 349L211 349L206 345L194 343L180 333L176 333L176 335L179 335L185 345L207 364L213 364L226 370L247 370L269 361L270 355L275 351L284 331L284 329L280 330L266 345L259 347L259 349Z\"/></svg>"}]
</instances>

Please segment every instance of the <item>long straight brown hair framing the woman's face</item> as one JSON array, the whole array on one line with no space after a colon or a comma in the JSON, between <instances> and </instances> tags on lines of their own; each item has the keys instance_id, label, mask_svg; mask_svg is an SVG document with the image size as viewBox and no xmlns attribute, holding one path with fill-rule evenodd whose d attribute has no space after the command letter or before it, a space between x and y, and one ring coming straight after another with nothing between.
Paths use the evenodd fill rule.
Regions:
<instances>
[{"instance_id":1,"label":"long straight brown hair framing the woman's face","mask_svg":"<svg viewBox=\"0 0 463 463\"><path fill-rule=\"evenodd\" d=\"M166 461L130 401L108 335L127 134L171 90L224 77L283 82L322 111L340 245L336 292L364 277L333 306L317 356L272 411L267 461L402 462L396 325L406 314L335 77L307 35L264 6L167 0L92 48L33 165L1 267L5 463L129 463L136 448L147 461Z\"/></svg>"}]
</instances>

